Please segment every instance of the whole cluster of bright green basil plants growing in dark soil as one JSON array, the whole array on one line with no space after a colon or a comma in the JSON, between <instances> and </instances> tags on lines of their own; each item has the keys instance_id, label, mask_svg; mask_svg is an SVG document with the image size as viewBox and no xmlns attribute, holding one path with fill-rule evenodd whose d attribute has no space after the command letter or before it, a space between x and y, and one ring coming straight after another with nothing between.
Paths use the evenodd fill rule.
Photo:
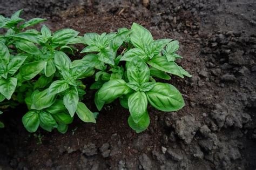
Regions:
<instances>
[{"instance_id":1,"label":"whole cluster of bright green basil plants growing in dark soil","mask_svg":"<svg viewBox=\"0 0 256 170\"><path fill-rule=\"evenodd\" d=\"M22 10L11 18L0 15L0 105L2 109L26 104L28 112L22 118L29 132L40 126L51 132L68 130L75 114L86 123L96 123L97 112L91 112L83 101L84 81L93 76L90 86L95 104L102 110L105 104L119 99L129 109L128 124L137 133L150 124L147 105L160 111L177 111L184 100L176 87L159 83L170 75L191 77L175 63L182 58L176 52L177 40L154 40L143 26L133 23L131 29L113 33L85 33L72 29L56 32L43 25L41 31L29 26L45 21L33 18L24 21ZM84 44L82 59L71 60L73 45ZM69 56L68 56L68 55ZM72 57L71 57L72 58ZM2 113L2 112L0 112ZM0 126L4 126L0 121Z\"/></svg>"}]
</instances>

